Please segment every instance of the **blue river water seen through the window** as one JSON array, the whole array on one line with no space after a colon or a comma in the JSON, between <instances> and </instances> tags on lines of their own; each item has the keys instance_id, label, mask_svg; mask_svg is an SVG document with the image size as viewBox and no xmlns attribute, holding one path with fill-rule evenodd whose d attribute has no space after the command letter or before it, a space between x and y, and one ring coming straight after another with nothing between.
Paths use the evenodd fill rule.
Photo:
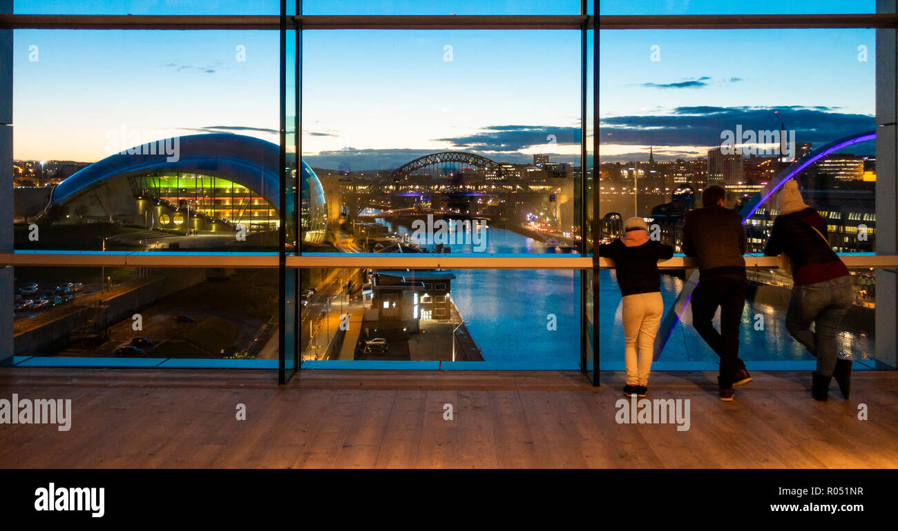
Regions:
<instances>
[{"instance_id":1,"label":"blue river water seen through the window","mask_svg":"<svg viewBox=\"0 0 898 531\"><path fill-rule=\"evenodd\" d=\"M398 227L400 234L408 233ZM393 229L391 229L393 230ZM470 245L452 246L453 254L471 253ZM545 244L512 231L490 228L487 253L553 252ZM485 361L522 367L577 369L580 361L579 272L556 270L455 269L453 301ZM623 361L621 292L615 273L599 275L602 361ZM669 308L682 280L662 275L662 297ZM792 340L785 326L786 300L781 304L748 301L741 327L740 357L746 361L813 360ZM553 317L554 316L554 317ZM554 329L550 329L554 322ZM761 324L763 326L759 326ZM715 324L718 324L715 318ZM762 328L762 329L757 329ZM843 356L874 357L872 338L847 330L839 339ZM674 327L659 361L718 361L691 326L691 311Z\"/></svg>"}]
</instances>

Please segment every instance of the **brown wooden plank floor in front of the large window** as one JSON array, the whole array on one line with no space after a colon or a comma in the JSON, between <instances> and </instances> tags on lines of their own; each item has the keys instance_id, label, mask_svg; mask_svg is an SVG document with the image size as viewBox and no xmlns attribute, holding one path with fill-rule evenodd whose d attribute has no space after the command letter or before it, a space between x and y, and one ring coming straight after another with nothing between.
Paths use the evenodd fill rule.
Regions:
<instances>
[{"instance_id":1,"label":"brown wooden plank floor in front of the large window","mask_svg":"<svg viewBox=\"0 0 898 531\"><path fill-rule=\"evenodd\" d=\"M898 372L826 403L753 376L722 403L714 374L653 373L649 398L690 399L677 431L615 422L621 373L2 369L0 398L71 398L73 422L0 424L0 467L898 467Z\"/></svg>"}]
</instances>

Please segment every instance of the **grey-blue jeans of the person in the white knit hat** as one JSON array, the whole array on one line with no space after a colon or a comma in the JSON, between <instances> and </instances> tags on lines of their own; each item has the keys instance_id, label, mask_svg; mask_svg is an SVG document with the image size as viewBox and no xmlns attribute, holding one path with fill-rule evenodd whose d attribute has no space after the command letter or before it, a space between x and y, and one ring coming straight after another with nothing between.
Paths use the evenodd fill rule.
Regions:
<instances>
[{"instance_id":1,"label":"grey-blue jeans of the person in the white knit hat","mask_svg":"<svg viewBox=\"0 0 898 531\"><path fill-rule=\"evenodd\" d=\"M786 329L817 359L814 374L832 376L839 353L836 335L851 308L851 277L840 276L822 283L795 286L786 311ZM814 323L814 332L811 332Z\"/></svg>"}]
</instances>

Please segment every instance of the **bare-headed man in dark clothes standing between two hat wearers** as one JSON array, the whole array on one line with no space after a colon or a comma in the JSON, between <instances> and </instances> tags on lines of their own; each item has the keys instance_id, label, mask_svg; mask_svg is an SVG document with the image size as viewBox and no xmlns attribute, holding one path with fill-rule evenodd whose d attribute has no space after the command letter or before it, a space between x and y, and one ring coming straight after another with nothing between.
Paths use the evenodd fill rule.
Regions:
<instances>
[{"instance_id":1,"label":"bare-headed man in dark clothes standing between two hat wearers","mask_svg":"<svg viewBox=\"0 0 898 531\"><path fill-rule=\"evenodd\" d=\"M742 217L726 208L726 191L717 186L701 193L702 207L686 214L682 250L699 264L692 292L692 326L720 356L720 399L733 400L733 387L752 381L739 359L739 326L745 307L745 230ZM711 324L720 308L720 332Z\"/></svg>"}]
</instances>

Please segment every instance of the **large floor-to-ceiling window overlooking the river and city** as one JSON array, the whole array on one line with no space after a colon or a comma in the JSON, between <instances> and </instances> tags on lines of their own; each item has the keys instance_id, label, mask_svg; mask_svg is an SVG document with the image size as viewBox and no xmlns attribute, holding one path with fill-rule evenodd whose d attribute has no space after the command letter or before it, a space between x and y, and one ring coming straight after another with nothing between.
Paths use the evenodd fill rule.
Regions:
<instances>
[{"instance_id":1,"label":"large floor-to-ceiling window overlooking the river and city","mask_svg":"<svg viewBox=\"0 0 898 531\"><path fill-rule=\"evenodd\" d=\"M842 353L894 368L896 10L597 4L0 3L0 359L597 384L623 335L594 248L639 216L678 254L658 367L713 369L680 253L718 184L743 357L803 367L758 257L795 178L851 268Z\"/></svg>"}]
</instances>

